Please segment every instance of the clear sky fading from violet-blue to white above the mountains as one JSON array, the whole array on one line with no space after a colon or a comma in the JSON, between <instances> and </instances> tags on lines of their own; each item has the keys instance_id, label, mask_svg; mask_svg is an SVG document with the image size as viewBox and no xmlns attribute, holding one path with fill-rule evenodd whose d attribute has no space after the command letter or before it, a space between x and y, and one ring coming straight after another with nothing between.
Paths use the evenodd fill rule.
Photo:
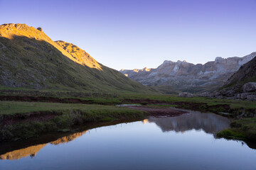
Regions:
<instances>
[{"instance_id":1,"label":"clear sky fading from violet-blue to white above the mountains","mask_svg":"<svg viewBox=\"0 0 256 170\"><path fill-rule=\"evenodd\" d=\"M41 27L114 69L256 51L256 0L0 0L0 24Z\"/></svg>"}]
</instances>

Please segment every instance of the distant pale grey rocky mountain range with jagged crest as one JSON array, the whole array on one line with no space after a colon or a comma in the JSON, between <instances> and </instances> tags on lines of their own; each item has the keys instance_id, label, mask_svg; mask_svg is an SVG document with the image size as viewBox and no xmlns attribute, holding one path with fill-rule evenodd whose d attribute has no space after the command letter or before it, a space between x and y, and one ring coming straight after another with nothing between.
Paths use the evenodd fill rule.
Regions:
<instances>
[{"instance_id":1,"label":"distant pale grey rocky mountain range with jagged crest","mask_svg":"<svg viewBox=\"0 0 256 170\"><path fill-rule=\"evenodd\" d=\"M245 63L256 56L252 52L245 57L216 57L206 64L192 64L186 61L164 61L156 69L122 69L127 77L146 86L154 86L165 93L180 91L201 92L218 89Z\"/></svg>"}]
</instances>

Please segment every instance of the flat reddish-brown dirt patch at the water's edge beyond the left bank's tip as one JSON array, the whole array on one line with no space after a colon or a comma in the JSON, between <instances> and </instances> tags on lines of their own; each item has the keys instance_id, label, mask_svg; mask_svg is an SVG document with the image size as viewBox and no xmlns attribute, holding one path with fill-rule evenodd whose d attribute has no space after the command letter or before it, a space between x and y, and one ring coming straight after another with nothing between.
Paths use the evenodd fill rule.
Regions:
<instances>
[{"instance_id":1,"label":"flat reddish-brown dirt patch at the water's edge beyond the left bank's tip","mask_svg":"<svg viewBox=\"0 0 256 170\"><path fill-rule=\"evenodd\" d=\"M159 117L159 116L178 116L183 113L187 113L186 111L178 111L174 108L149 108L146 106L126 106L127 108L133 108L139 111L146 111L151 116Z\"/></svg>"}]
</instances>

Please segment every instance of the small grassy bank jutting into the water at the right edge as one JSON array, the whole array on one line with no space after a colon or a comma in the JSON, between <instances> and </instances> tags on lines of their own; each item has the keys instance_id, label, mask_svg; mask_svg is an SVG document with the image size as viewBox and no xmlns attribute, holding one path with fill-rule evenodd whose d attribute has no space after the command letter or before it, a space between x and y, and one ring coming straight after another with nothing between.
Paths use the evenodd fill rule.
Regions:
<instances>
[{"instance_id":1,"label":"small grassy bank jutting into the water at the right edge","mask_svg":"<svg viewBox=\"0 0 256 170\"><path fill-rule=\"evenodd\" d=\"M218 132L217 137L256 142L256 118L235 120L230 126L230 129Z\"/></svg>"}]
</instances>

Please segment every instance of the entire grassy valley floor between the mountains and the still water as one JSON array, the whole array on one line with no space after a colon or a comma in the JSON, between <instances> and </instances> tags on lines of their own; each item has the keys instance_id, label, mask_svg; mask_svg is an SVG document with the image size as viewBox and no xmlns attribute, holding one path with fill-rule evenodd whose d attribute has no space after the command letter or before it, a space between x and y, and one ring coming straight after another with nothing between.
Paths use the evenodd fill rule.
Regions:
<instances>
[{"instance_id":1,"label":"entire grassy valley floor between the mountains and the still water","mask_svg":"<svg viewBox=\"0 0 256 170\"><path fill-rule=\"evenodd\" d=\"M230 130L218 133L228 139L256 140L256 105L252 101L215 98L181 98L156 94L90 94L61 91L1 91L0 142L25 140L47 132L68 131L90 122L142 120L148 115L182 114L171 107L212 112L235 120ZM119 107L120 104L142 106ZM135 109L136 110L135 110Z\"/></svg>"}]
</instances>

